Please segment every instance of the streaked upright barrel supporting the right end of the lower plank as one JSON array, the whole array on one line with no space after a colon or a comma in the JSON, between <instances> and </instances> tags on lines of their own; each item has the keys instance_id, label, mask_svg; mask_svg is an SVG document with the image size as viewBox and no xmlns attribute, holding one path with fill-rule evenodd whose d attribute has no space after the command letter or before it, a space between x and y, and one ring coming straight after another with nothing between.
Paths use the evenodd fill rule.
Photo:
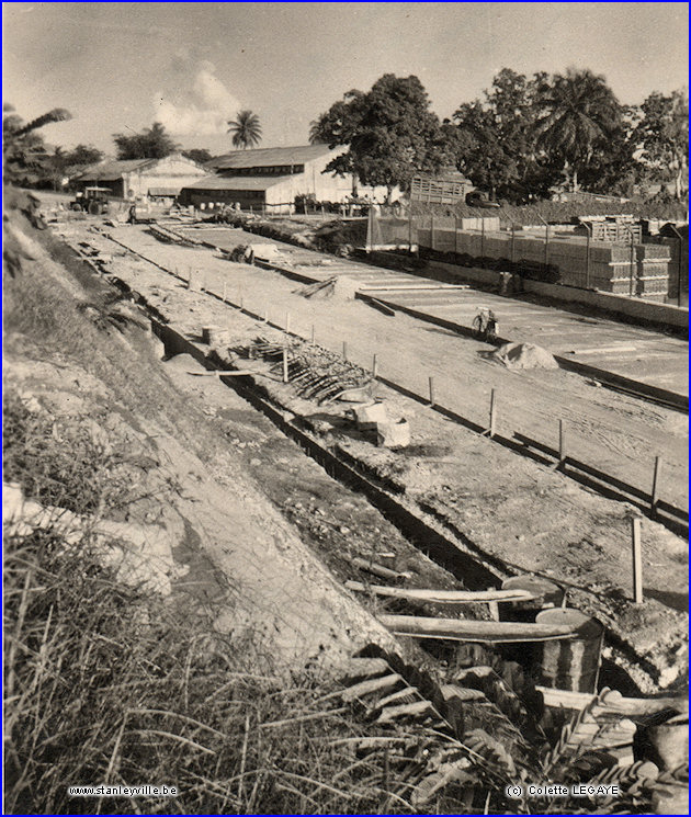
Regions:
<instances>
[{"instance_id":1,"label":"streaked upright barrel supporting the right end of the lower plank","mask_svg":"<svg viewBox=\"0 0 691 817\"><path fill-rule=\"evenodd\" d=\"M567 624L574 631L571 638L542 644L542 683L570 692L596 692L602 651L602 624L570 608L543 610L537 613L535 621L540 624Z\"/></svg>"}]
</instances>

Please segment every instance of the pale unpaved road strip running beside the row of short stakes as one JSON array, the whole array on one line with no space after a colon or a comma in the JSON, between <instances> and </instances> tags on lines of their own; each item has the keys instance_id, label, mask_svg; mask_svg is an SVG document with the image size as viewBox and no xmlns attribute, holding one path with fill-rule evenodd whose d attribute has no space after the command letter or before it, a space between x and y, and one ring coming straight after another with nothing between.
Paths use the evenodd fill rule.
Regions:
<instances>
[{"instance_id":1,"label":"pale unpaved road strip running beside the row of short stakes","mask_svg":"<svg viewBox=\"0 0 691 817\"><path fill-rule=\"evenodd\" d=\"M520 432L556 447L565 422L568 453L642 490L649 491L655 457L664 458L659 495L688 509L688 417L633 397L598 388L563 370L510 372L488 362L491 347L405 315L387 317L361 302L307 300L299 285L271 271L233 264L211 250L162 245L143 228L110 230L118 241L186 274L204 271L207 290L309 337L417 394L434 379L437 401L463 417L487 423L496 390L497 430ZM254 236L250 237L254 240Z\"/></svg>"}]
</instances>

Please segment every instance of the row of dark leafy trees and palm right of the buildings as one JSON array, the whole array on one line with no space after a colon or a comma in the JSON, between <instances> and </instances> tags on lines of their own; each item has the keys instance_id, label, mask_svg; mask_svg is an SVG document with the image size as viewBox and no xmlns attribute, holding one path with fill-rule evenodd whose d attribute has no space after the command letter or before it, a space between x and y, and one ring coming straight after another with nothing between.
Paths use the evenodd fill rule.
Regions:
<instances>
[{"instance_id":1,"label":"row of dark leafy trees and palm right of the buildings","mask_svg":"<svg viewBox=\"0 0 691 817\"><path fill-rule=\"evenodd\" d=\"M526 77L503 68L482 98L440 121L417 77L387 73L367 92L348 91L311 123L309 138L347 146L330 170L389 191L408 189L418 172L453 167L512 204L554 186L631 195L634 184L672 181L679 198L688 111L682 91L622 105L590 70Z\"/></svg>"}]
</instances>

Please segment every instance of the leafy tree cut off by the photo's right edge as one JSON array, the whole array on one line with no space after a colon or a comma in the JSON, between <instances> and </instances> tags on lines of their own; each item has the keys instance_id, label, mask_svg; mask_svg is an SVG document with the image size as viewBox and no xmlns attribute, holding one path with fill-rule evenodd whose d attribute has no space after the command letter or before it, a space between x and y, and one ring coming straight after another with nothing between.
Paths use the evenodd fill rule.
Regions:
<instances>
[{"instance_id":1,"label":"leafy tree cut off by the photo's right edge","mask_svg":"<svg viewBox=\"0 0 691 817\"><path fill-rule=\"evenodd\" d=\"M660 181L675 182L679 200L689 170L689 100L683 91L665 95L655 91L641 105L642 120L633 140L642 149L641 161Z\"/></svg>"}]
</instances>

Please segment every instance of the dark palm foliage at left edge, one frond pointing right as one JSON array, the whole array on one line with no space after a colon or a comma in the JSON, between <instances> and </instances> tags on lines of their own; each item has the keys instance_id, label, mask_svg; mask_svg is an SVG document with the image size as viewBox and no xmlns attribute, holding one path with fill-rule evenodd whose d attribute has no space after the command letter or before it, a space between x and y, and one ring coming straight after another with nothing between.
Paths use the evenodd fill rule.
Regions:
<instances>
[{"instance_id":1,"label":"dark palm foliage at left edge, one frond pointing right","mask_svg":"<svg viewBox=\"0 0 691 817\"><path fill-rule=\"evenodd\" d=\"M5 182L34 186L53 179L50 157L38 131L45 125L66 120L71 120L69 111L54 107L25 123L12 105L3 104L2 172Z\"/></svg>"}]
</instances>

